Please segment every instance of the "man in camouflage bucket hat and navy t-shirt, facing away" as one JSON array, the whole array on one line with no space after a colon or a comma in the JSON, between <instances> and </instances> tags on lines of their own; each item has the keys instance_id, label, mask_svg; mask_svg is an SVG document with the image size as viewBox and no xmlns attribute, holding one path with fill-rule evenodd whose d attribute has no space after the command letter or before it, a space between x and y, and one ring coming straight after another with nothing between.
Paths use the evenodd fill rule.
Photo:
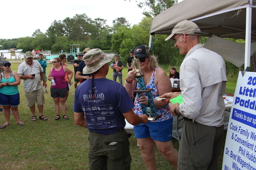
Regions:
<instances>
[{"instance_id":1,"label":"man in camouflage bucket hat and navy t-shirt, facing away","mask_svg":"<svg viewBox=\"0 0 256 170\"><path fill-rule=\"evenodd\" d=\"M125 88L106 79L111 58L99 48L88 51L83 57L86 64L83 73L90 74L91 78L81 83L75 92L75 123L89 129L90 170L130 170L125 119L132 125L148 122L146 115L133 112L134 104Z\"/></svg>"}]
</instances>

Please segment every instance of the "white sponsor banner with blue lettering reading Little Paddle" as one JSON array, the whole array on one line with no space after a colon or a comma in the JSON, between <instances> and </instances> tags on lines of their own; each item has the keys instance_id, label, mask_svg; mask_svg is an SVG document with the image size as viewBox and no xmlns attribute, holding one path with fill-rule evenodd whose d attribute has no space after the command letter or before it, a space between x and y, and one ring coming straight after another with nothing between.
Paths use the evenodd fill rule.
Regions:
<instances>
[{"instance_id":1,"label":"white sponsor banner with blue lettering reading Little Paddle","mask_svg":"<svg viewBox=\"0 0 256 170\"><path fill-rule=\"evenodd\" d=\"M222 170L256 170L256 72L239 72Z\"/></svg>"}]
</instances>

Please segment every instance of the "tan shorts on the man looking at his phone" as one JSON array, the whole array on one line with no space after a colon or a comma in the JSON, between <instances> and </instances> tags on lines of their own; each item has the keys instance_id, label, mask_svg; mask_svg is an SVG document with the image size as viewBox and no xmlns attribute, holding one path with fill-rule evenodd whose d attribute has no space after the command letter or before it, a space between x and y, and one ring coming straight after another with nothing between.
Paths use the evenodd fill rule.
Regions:
<instances>
[{"instance_id":1,"label":"tan shorts on the man looking at his phone","mask_svg":"<svg viewBox=\"0 0 256 170\"><path fill-rule=\"evenodd\" d=\"M33 105L35 105L35 102L38 105L44 105L44 91L43 88L36 90L36 91L32 91L32 92L28 92L25 91L26 94L26 102L27 102L27 107L32 107Z\"/></svg>"}]
</instances>

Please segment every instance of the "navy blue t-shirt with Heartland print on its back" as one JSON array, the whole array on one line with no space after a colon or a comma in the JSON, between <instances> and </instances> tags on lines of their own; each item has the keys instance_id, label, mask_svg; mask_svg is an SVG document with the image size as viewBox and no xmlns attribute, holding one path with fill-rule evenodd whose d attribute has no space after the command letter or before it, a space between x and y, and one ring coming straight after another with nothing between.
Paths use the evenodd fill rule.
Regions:
<instances>
[{"instance_id":1,"label":"navy blue t-shirt with Heartland print on its back","mask_svg":"<svg viewBox=\"0 0 256 170\"><path fill-rule=\"evenodd\" d=\"M100 78L94 81L94 99L92 99L92 79L76 88L73 105L74 112L83 112L89 130L99 134L116 133L125 127L122 113L134 107L126 89L118 82Z\"/></svg>"}]
</instances>

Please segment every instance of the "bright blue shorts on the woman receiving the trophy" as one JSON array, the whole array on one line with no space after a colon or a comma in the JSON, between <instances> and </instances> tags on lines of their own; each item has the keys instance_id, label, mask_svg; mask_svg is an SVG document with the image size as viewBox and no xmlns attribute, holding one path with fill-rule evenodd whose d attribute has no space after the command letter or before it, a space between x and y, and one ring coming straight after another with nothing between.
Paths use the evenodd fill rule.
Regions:
<instances>
[{"instance_id":1,"label":"bright blue shorts on the woman receiving the trophy","mask_svg":"<svg viewBox=\"0 0 256 170\"><path fill-rule=\"evenodd\" d=\"M162 122L148 122L134 126L135 138L150 137L153 140L167 142L172 140L173 118Z\"/></svg>"}]
</instances>

